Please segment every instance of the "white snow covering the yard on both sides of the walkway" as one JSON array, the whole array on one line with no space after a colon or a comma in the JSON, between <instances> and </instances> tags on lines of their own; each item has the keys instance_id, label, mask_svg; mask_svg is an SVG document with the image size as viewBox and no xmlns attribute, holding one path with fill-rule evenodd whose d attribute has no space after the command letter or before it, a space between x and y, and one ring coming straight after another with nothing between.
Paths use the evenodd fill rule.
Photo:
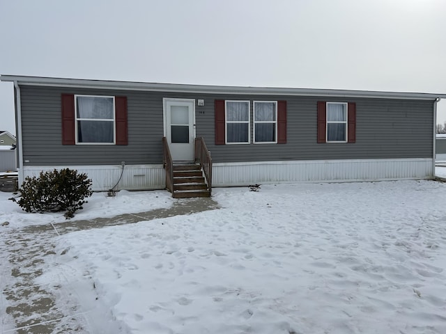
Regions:
<instances>
[{"instance_id":1,"label":"white snow covering the yard on both sides of the walkway","mask_svg":"<svg viewBox=\"0 0 446 334\"><path fill-rule=\"evenodd\" d=\"M446 183L213 193L221 209L57 237L36 284L65 273L98 324L130 333L446 333ZM137 212L141 196L95 194L76 218ZM54 221L5 197L0 222Z\"/></svg>"}]
</instances>

